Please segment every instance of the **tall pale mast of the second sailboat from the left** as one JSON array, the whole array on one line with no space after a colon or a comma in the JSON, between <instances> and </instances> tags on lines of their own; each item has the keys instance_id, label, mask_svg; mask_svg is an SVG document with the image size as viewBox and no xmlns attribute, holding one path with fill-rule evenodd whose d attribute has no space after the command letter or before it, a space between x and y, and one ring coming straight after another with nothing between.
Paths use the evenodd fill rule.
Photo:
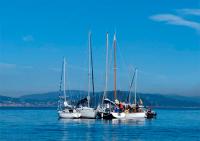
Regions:
<instances>
[{"instance_id":1,"label":"tall pale mast of the second sailboat from the left","mask_svg":"<svg viewBox=\"0 0 200 141\"><path fill-rule=\"evenodd\" d=\"M91 37L91 32L88 34L88 107L90 107L90 37Z\"/></svg>"}]
</instances>

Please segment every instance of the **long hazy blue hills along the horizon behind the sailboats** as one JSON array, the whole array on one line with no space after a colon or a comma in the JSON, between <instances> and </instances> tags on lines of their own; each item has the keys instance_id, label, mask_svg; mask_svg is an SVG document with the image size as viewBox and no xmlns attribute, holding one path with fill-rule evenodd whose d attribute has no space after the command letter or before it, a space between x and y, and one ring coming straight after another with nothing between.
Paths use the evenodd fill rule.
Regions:
<instances>
[{"instance_id":1,"label":"long hazy blue hills along the horizon behind the sailboats","mask_svg":"<svg viewBox=\"0 0 200 141\"><path fill-rule=\"evenodd\" d=\"M67 98L73 102L85 98L86 91L70 90L66 91ZM102 98L103 92L96 92L92 96L92 104L97 105ZM131 101L133 101L133 95ZM56 107L59 92L49 92L44 94L24 95L18 98L0 96L1 106L16 106L16 107ZM127 91L117 91L117 97L121 101L126 101L128 96ZM186 97L178 95L162 95L162 94L145 94L138 93L138 99L143 100L144 105L152 107L200 107L200 97ZM113 91L107 92L107 97L113 99Z\"/></svg>"}]
</instances>

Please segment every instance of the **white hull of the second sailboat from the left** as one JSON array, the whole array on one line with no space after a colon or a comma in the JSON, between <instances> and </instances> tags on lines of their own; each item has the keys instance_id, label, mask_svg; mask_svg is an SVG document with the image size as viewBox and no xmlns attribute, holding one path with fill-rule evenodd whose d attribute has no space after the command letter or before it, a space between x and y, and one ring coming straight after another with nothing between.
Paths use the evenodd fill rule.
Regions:
<instances>
[{"instance_id":1,"label":"white hull of the second sailboat from the left","mask_svg":"<svg viewBox=\"0 0 200 141\"><path fill-rule=\"evenodd\" d=\"M97 111L94 108L81 107L81 108L77 108L77 111L81 113L81 118L94 119L97 116Z\"/></svg>"}]
</instances>

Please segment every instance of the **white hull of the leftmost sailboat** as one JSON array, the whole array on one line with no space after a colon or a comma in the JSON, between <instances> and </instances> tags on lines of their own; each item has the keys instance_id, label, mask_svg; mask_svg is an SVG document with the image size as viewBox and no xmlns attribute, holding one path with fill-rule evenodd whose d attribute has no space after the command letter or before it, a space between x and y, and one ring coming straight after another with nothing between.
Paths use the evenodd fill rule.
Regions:
<instances>
[{"instance_id":1,"label":"white hull of the leftmost sailboat","mask_svg":"<svg viewBox=\"0 0 200 141\"><path fill-rule=\"evenodd\" d=\"M59 118L65 118L65 119L74 119L74 118L80 118L81 114L79 112L65 112L65 111L58 111Z\"/></svg>"}]
</instances>

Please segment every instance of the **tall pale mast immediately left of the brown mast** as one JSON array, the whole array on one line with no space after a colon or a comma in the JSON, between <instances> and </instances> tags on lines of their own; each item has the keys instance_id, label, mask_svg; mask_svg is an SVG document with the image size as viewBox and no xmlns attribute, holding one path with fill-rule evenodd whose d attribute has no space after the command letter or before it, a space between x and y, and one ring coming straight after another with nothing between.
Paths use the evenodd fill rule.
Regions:
<instances>
[{"instance_id":1,"label":"tall pale mast immediately left of the brown mast","mask_svg":"<svg viewBox=\"0 0 200 141\"><path fill-rule=\"evenodd\" d=\"M106 73L105 73L105 89L104 89L102 104L103 100L106 98L107 87L108 87L108 32L106 33Z\"/></svg>"}]
</instances>

